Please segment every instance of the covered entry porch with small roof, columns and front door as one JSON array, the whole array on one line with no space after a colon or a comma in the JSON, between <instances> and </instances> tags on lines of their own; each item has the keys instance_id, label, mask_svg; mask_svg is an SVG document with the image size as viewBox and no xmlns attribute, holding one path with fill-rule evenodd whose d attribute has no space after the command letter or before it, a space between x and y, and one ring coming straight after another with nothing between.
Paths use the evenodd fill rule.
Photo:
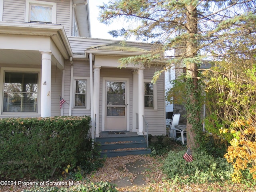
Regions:
<instances>
[{"instance_id":1,"label":"covered entry porch with small roof, columns and front door","mask_svg":"<svg viewBox=\"0 0 256 192\"><path fill-rule=\"evenodd\" d=\"M124 51L127 49L127 51ZM95 137L105 131L136 132L144 128L144 67L129 64L119 68L122 57L145 54L140 48L119 43L86 50L93 68L92 117Z\"/></svg>"}]
</instances>

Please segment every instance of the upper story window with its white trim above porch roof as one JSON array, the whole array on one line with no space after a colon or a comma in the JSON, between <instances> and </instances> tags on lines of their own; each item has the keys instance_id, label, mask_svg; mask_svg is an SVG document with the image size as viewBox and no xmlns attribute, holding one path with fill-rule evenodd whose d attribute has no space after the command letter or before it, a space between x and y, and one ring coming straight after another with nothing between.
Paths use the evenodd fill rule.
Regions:
<instances>
[{"instance_id":1,"label":"upper story window with its white trim above porch roof","mask_svg":"<svg viewBox=\"0 0 256 192\"><path fill-rule=\"evenodd\" d=\"M38 0L26 0L25 22L56 23L56 3Z\"/></svg>"}]
</instances>

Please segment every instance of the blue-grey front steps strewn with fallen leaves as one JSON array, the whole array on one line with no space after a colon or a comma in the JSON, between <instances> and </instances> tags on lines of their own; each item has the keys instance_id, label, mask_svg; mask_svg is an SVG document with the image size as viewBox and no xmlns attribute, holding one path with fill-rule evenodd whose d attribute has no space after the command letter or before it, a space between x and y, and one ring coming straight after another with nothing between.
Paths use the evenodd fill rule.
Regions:
<instances>
[{"instance_id":1,"label":"blue-grey front steps strewn with fallen leaves","mask_svg":"<svg viewBox=\"0 0 256 192\"><path fill-rule=\"evenodd\" d=\"M100 144L101 157L117 157L126 155L150 154L144 136L134 132L102 132L96 142Z\"/></svg>"}]
</instances>

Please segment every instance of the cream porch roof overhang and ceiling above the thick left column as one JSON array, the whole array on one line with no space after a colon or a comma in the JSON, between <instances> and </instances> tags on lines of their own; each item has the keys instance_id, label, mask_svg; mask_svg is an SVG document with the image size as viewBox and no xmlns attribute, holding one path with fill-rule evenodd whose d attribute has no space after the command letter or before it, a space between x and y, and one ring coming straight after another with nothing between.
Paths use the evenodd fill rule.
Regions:
<instances>
[{"instance_id":1,"label":"cream porch roof overhang and ceiling above the thick left column","mask_svg":"<svg viewBox=\"0 0 256 192\"><path fill-rule=\"evenodd\" d=\"M63 26L0 22L0 63L42 64L43 51L52 52L52 65L64 69L72 50Z\"/></svg>"}]
</instances>

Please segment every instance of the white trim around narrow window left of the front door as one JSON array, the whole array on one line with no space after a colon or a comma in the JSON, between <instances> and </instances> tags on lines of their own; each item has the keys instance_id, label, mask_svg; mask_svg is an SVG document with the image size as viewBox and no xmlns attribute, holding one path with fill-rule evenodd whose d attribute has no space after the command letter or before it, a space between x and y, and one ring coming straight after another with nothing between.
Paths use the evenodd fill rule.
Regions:
<instances>
[{"instance_id":1,"label":"white trim around narrow window left of the front door","mask_svg":"<svg viewBox=\"0 0 256 192\"><path fill-rule=\"evenodd\" d=\"M86 107L75 107L75 95L76 95L76 80L86 80ZM72 100L72 110L74 111L84 111L90 110L90 77L73 77L73 100Z\"/></svg>"}]
</instances>

